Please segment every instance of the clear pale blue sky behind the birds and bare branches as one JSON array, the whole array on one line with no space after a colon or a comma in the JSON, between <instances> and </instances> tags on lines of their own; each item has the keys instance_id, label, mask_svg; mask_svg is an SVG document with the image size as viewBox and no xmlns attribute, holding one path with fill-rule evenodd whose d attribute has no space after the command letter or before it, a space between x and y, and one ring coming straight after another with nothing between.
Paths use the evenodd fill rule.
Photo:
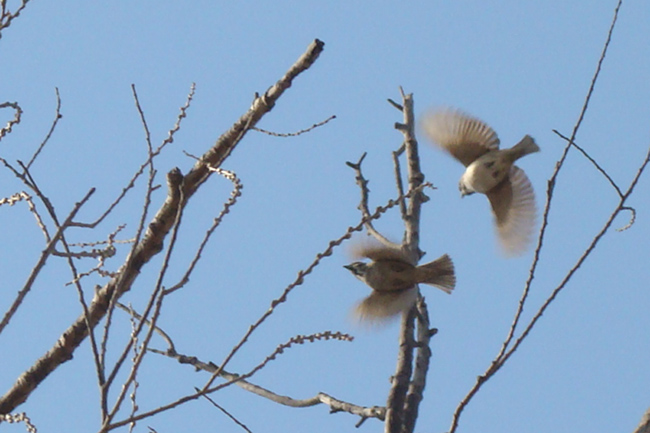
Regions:
<instances>
[{"instance_id":1,"label":"clear pale blue sky behind the birds and bare branches","mask_svg":"<svg viewBox=\"0 0 650 433\"><path fill-rule=\"evenodd\" d=\"M90 187L97 193L80 218L105 209L146 157L134 107L134 83L154 144L173 126L192 82L196 96L182 129L157 160L160 172L192 160L183 151L206 151L293 64L314 38L325 42L316 64L301 75L258 125L277 132L306 128L336 115L327 126L296 138L250 133L224 168L245 187L188 286L169 299L161 326L177 349L219 363L250 323L331 239L359 221L359 191L345 161L368 152L364 173L371 205L396 196L391 151L402 140L393 129L401 114L386 103L398 86L412 92L416 113L431 106L462 108L488 122L502 144L524 134L542 152L521 161L540 209L546 182L578 119L610 26L614 1L464 0L265 4L171 1L33 1L0 39L0 100L18 101L23 120L0 143L0 155L26 161L47 133L59 88L63 118L32 174L61 217ZM650 145L650 5L626 1L583 125L582 145L626 189ZM13 117L0 111L0 123ZM427 180L437 190L422 215L426 259L449 253L458 273L452 296L424 289L434 326L433 357L417 431L444 432L451 414L488 367L507 334L532 253L499 254L487 200L460 200L462 167L421 140ZM119 224L132 236L143 202L144 180L95 232L71 239L103 239ZM0 196L24 187L0 171ZM506 367L467 407L460 432L631 431L650 405L648 329L649 176L628 204L634 226L611 231L542 317ZM183 240L166 285L176 282L210 221L227 199L230 183L217 177L195 195L181 230ZM164 200L154 194L153 209ZM616 193L583 156L571 151L557 179L550 226L530 305L524 318L561 281L602 227ZM42 209L42 207L41 207ZM627 223L619 217L615 227ZM398 211L378 223L401 238ZM4 312L43 249L43 236L24 204L0 208L0 273ZM116 269L123 246L109 262ZM155 281L158 256L123 301L142 306ZM321 342L289 350L253 382L294 398L326 392L359 405L383 405L395 368L398 323L378 330L350 320L366 287L342 268L340 248L292 292L289 302L253 335L229 369L245 372L296 334L340 330L353 343ZM94 266L83 262L83 269ZM11 326L0 336L4 393L18 374L48 350L80 313L77 294L64 286L70 273L50 259ZM86 291L92 296L88 279ZM128 338L125 317L114 336ZM164 348L155 340L154 347ZM116 348L118 346L116 345ZM116 356L113 352L113 356ZM205 374L149 356L138 390L143 410L201 386ZM213 398L253 432L354 431L357 418L330 415L325 406L290 409L233 387ZM98 391L87 342L19 410L39 431L95 431ZM241 431L206 401L147 419L159 432ZM7 427L5 427L7 428ZM20 427L14 427L19 428ZM380 431L368 420L359 431Z\"/></svg>"}]
</instances>

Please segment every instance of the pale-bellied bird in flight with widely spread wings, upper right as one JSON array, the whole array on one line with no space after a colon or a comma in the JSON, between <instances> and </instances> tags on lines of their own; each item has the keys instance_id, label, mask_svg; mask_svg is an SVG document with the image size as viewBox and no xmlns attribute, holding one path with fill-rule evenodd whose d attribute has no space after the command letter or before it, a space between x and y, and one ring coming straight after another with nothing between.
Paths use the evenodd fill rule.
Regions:
<instances>
[{"instance_id":1,"label":"pale-bellied bird in flight with widely spread wings, upper right","mask_svg":"<svg viewBox=\"0 0 650 433\"><path fill-rule=\"evenodd\" d=\"M526 252L537 217L535 192L526 173L514 165L539 152L530 135L509 149L499 149L499 137L485 122L456 109L426 113L421 126L427 137L465 167L458 189L461 197L485 194L490 201L497 237L507 256Z\"/></svg>"}]
</instances>

